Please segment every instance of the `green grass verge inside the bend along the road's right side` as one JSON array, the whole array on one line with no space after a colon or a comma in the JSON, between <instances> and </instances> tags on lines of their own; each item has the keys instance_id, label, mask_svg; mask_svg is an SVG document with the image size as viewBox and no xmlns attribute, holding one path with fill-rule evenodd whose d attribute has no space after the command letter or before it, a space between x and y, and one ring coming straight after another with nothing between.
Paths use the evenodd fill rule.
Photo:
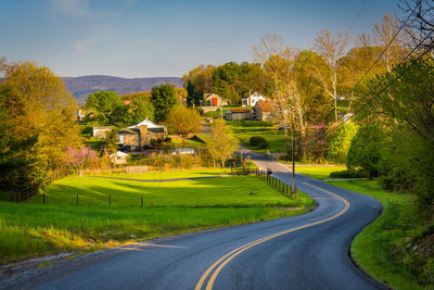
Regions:
<instances>
[{"instance_id":1,"label":"green grass verge inside the bend along the road's right side","mask_svg":"<svg viewBox=\"0 0 434 290\"><path fill-rule=\"evenodd\" d=\"M426 257L423 253L406 250L410 242L416 242L421 232L429 228L417 213L416 197L387 192L376 180L340 180L329 184L371 196L383 204L382 215L356 236L352 243L352 256L357 264L370 276L394 289L420 289L422 287L418 280L433 289L434 278L431 282L423 278L421 263Z\"/></svg>"}]
</instances>

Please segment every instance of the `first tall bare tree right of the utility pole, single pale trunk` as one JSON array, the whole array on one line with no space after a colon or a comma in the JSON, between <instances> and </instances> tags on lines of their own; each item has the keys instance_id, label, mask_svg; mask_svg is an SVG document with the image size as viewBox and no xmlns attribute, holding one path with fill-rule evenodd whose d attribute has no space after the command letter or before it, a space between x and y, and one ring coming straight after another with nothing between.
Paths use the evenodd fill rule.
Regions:
<instances>
[{"instance_id":1,"label":"first tall bare tree right of the utility pole, single pale trunk","mask_svg":"<svg viewBox=\"0 0 434 290\"><path fill-rule=\"evenodd\" d=\"M317 77L330 97L334 101L334 119L337 122L337 80L339 61L345 55L345 50L349 42L348 34L340 33L332 36L329 30L322 30L315 39L314 48L326 62L327 70L322 71L318 66L314 67L312 75Z\"/></svg>"}]
</instances>

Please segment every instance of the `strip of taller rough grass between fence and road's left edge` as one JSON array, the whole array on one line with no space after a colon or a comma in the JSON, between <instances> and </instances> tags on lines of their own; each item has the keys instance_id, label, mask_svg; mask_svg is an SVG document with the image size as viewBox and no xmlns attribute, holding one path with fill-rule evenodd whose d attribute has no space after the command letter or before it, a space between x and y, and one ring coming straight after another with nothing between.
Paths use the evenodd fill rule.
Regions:
<instances>
[{"instance_id":1,"label":"strip of taller rough grass between fence and road's left edge","mask_svg":"<svg viewBox=\"0 0 434 290\"><path fill-rule=\"evenodd\" d=\"M305 209L89 207L0 202L0 263L72 250L98 250L219 226L297 215ZM131 236L133 235L133 236Z\"/></svg>"}]
</instances>

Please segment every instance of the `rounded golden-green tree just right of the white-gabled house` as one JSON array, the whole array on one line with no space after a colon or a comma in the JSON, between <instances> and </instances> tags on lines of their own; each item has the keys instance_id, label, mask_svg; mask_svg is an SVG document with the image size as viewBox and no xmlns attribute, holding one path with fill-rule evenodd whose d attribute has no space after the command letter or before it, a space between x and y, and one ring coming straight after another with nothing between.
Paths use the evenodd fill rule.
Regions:
<instances>
[{"instance_id":1,"label":"rounded golden-green tree just right of the white-gabled house","mask_svg":"<svg viewBox=\"0 0 434 290\"><path fill-rule=\"evenodd\" d=\"M186 143L190 134L200 131L201 123L202 117L197 111L183 105L174 108L166 121L169 131L179 135L182 138L182 143Z\"/></svg>"}]
</instances>

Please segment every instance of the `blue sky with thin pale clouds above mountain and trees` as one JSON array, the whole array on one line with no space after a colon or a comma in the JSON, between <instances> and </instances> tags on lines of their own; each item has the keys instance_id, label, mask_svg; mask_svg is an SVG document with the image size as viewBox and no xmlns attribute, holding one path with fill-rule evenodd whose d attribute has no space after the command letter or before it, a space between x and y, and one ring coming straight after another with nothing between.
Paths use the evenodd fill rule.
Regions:
<instances>
[{"instance_id":1,"label":"blue sky with thin pale clouds above mountain and trees","mask_svg":"<svg viewBox=\"0 0 434 290\"><path fill-rule=\"evenodd\" d=\"M371 33L398 0L0 0L0 56L60 76L181 77L252 62L267 34L309 48L320 30Z\"/></svg>"}]
</instances>

